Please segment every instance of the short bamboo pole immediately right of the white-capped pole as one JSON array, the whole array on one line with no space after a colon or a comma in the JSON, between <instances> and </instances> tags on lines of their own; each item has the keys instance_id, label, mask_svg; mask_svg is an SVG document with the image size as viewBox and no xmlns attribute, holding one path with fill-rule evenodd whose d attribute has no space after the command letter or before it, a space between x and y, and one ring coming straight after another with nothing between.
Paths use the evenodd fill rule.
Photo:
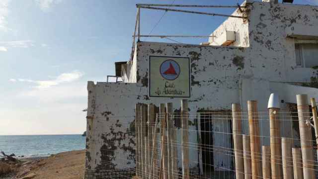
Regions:
<instances>
[{"instance_id":1,"label":"short bamboo pole immediately right of the white-capped pole","mask_svg":"<svg viewBox=\"0 0 318 179\"><path fill-rule=\"evenodd\" d=\"M292 139L282 138L282 160L284 179L293 179Z\"/></svg>"}]
</instances>

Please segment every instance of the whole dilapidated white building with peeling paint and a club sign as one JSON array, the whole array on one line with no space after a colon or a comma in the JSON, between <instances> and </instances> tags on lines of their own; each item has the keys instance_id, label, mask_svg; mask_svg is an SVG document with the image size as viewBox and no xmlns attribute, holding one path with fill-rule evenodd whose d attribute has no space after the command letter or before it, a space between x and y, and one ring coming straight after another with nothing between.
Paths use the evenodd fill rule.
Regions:
<instances>
[{"instance_id":1,"label":"whole dilapidated white building with peeling paint and a club sign","mask_svg":"<svg viewBox=\"0 0 318 179\"><path fill-rule=\"evenodd\" d=\"M318 83L318 6L247 0L210 36L200 45L138 41L131 60L116 63L122 82L88 82L85 179L121 178L135 168L136 103L173 102L173 111L180 111L180 99L187 99L189 111L200 116L231 111L232 103L246 111L247 100L267 110L272 92L288 112L296 94L318 95L311 88ZM189 120L189 128L204 126L196 117ZM288 125L282 136L292 135ZM231 148L231 136L220 138L215 128L231 133L231 123L208 127L209 145ZM262 135L269 135L268 128L261 124ZM189 135L189 141L197 136ZM202 156L191 152L189 167L195 172ZM232 156L211 155L214 171L234 168Z\"/></svg>"}]
</instances>

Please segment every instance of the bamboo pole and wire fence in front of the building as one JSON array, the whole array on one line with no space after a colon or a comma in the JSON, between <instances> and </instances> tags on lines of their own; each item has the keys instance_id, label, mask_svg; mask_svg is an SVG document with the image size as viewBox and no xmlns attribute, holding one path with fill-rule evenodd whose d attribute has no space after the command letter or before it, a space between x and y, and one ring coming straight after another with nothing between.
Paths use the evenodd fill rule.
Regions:
<instances>
[{"instance_id":1,"label":"bamboo pole and wire fence in front of the building","mask_svg":"<svg viewBox=\"0 0 318 179\"><path fill-rule=\"evenodd\" d=\"M316 124L308 104L306 110L290 104L277 110L256 107L253 112L188 112L187 105L182 104L175 112L172 105L136 104L134 122L122 124L135 138L133 147L124 148L134 150L135 155L116 155L115 165L108 158L101 163L111 166L114 173L130 172L118 172L122 178L131 178L132 174L140 179L318 176ZM118 144L113 141L113 145Z\"/></svg>"}]
</instances>

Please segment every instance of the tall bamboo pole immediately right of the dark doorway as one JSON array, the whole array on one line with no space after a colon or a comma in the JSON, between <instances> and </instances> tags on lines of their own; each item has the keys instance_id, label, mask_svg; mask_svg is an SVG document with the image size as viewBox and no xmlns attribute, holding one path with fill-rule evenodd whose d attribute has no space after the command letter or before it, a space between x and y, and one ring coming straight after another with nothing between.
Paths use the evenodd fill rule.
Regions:
<instances>
[{"instance_id":1,"label":"tall bamboo pole immediately right of the dark doorway","mask_svg":"<svg viewBox=\"0 0 318 179\"><path fill-rule=\"evenodd\" d=\"M236 179L244 179L242 111L239 104L232 104L232 115Z\"/></svg>"}]
</instances>

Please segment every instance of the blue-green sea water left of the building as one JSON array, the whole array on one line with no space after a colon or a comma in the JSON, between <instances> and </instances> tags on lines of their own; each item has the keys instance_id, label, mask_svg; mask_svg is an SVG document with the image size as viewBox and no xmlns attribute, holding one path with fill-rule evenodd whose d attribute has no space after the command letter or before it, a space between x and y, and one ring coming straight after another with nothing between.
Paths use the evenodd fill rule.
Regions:
<instances>
[{"instance_id":1,"label":"blue-green sea water left of the building","mask_svg":"<svg viewBox=\"0 0 318 179\"><path fill-rule=\"evenodd\" d=\"M85 139L81 135L0 136L0 151L20 157L42 157L85 149Z\"/></svg>"}]
</instances>

